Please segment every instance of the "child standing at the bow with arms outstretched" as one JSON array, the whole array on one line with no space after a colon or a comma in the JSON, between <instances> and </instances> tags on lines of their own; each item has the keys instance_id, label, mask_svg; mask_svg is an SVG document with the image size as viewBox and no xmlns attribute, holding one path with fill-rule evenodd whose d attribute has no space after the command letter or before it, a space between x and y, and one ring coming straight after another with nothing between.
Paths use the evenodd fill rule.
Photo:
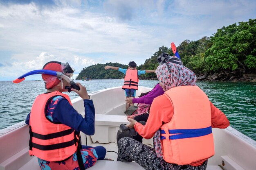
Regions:
<instances>
[{"instance_id":1,"label":"child standing at the bow with arms outstretched","mask_svg":"<svg viewBox=\"0 0 256 170\"><path fill-rule=\"evenodd\" d=\"M141 74L153 73L155 72L155 70L136 70L137 64L134 61L130 61L128 65L129 65L128 69L107 65L105 66L105 70L113 69L113 70L118 70L119 72L124 73L125 74L124 85L122 88L125 90L126 98L129 98L129 97L135 98L136 90L138 90L138 83L139 83L138 76ZM130 106L133 106L133 104L126 102L126 110Z\"/></svg>"}]
</instances>

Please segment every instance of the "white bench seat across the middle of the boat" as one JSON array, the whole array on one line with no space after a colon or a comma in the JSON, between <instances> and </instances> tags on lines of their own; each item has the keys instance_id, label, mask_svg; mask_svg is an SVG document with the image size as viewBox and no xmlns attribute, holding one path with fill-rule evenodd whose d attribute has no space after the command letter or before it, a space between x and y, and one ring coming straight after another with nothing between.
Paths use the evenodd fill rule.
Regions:
<instances>
[{"instance_id":1,"label":"white bench seat across the middle of the boat","mask_svg":"<svg viewBox=\"0 0 256 170\"><path fill-rule=\"evenodd\" d=\"M108 144L110 142L117 143L117 131L122 123L129 123L127 116L95 114L95 133L91 136L92 142L103 144ZM143 139L143 144L150 144L153 146L153 139Z\"/></svg>"}]
</instances>

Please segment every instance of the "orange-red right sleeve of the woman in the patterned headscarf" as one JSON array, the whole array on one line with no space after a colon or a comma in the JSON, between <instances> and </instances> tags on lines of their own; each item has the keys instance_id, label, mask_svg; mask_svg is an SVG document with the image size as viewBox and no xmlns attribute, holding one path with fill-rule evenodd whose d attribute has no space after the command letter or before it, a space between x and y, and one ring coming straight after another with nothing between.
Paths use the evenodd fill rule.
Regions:
<instances>
[{"instance_id":1,"label":"orange-red right sleeve of the woman in the patterned headscarf","mask_svg":"<svg viewBox=\"0 0 256 170\"><path fill-rule=\"evenodd\" d=\"M225 129L229 126L229 120L225 114L215 107L211 102L211 126L213 128Z\"/></svg>"}]
</instances>

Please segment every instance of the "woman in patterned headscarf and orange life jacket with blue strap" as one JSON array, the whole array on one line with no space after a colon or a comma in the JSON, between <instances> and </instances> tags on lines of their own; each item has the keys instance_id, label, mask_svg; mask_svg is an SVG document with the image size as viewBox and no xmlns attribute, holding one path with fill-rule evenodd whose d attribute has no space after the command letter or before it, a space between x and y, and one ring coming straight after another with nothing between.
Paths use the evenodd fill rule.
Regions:
<instances>
[{"instance_id":1,"label":"woman in patterned headscarf and orange life jacket with blue strap","mask_svg":"<svg viewBox=\"0 0 256 170\"><path fill-rule=\"evenodd\" d=\"M127 125L146 139L154 136L154 148L121 138L117 161L136 161L147 170L205 170L214 155L211 128L227 128L229 120L195 85L195 74L180 59L164 58L159 56L156 74L165 93L153 100L145 125L130 118Z\"/></svg>"}]
</instances>

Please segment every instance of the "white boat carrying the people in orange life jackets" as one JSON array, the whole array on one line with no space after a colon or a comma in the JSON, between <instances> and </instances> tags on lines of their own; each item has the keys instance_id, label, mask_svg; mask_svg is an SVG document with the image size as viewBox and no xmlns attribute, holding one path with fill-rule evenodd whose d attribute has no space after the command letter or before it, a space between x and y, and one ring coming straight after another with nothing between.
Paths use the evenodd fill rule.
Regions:
<instances>
[{"instance_id":1,"label":"white boat carrying the people in orange life jackets","mask_svg":"<svg viewBox=\"0 0 256 170\"><path fill-rule=\"evenodd\" d=\"M139 86L136 94L148 92L148 87ZM107 151L117 152L116 135L119 125L127 124L125 95L121 87L98 90L89 94L95 107L95 134L81 133L82 144L104 146ZM109 97L115 96L115 97ZM72 100L73 107L84 116L82 98ZM215 155L209 158L207 170L255 170L256 141L238 132L231 126L227 129L213 128ZM144 144L153 146L152 139L144 139ZM37 158L29 156L29 126L25 120L0 130L0 170L40 170ZM193 156L193 155L191 155ZM90 170L142 170L136 162L120 162L117 154L108 152L106 158L99 160Z\"/></svg>"}]
</instances>

